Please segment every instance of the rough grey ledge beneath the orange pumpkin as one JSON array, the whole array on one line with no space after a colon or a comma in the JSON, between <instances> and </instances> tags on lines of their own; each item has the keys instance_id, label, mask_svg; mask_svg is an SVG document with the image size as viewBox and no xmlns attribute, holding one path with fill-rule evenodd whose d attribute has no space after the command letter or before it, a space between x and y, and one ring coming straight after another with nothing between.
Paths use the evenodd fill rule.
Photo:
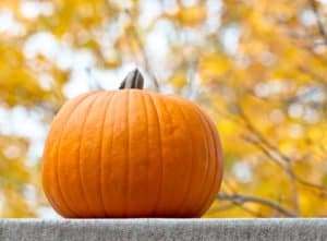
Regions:
<instances>
[{"instance_id":1,"label":"rough grey ledge beneath the orange pumpkin","mask_svg":"<svg viewBox=\"0 0 327 241\"><path fill-rule=\"evenodd\" d=\"M327 240L327 219L0 219L1 241Z\"/></svg>"}]
</instances>

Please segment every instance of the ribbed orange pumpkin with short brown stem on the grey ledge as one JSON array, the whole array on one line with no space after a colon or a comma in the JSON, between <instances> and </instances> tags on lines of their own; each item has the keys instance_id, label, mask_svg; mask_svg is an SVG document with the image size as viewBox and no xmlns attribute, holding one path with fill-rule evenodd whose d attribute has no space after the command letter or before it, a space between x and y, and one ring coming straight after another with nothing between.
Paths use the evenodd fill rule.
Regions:
<instances>
[{"instance_id":1,"label":"ribbed orange pumpkin with short brown stem on the grey ledge","mask_svg":"<svg viewBox=\"0 0 327 241\"><path fill-rule=\"evenodd\" d=\"M68 218L199 217L216 197L222 152L194 103L142 89L131 72L118 91L69 100L51 123L43 186Z\"/></svg>"}]
</instances>

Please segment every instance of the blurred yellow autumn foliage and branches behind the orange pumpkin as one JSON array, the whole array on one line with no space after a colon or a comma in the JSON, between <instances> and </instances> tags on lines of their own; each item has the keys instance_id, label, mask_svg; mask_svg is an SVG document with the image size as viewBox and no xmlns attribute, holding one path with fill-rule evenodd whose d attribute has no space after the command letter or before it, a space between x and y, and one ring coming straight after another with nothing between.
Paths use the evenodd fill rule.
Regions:
<instances>
[{"instance_id":1,"label":"blurred yellow autumn foliage and branches behind the orange pumpkin","mask_svg":"<svg viewBox=\"0 0 327 241\"><path fill-rule=\"evenodd\" d=\"M327 216L327 1L1 0L0 217L59 217L40 186L49 123L135 67L217 124L206 217Z\"/></svg>"}]
</instances>

